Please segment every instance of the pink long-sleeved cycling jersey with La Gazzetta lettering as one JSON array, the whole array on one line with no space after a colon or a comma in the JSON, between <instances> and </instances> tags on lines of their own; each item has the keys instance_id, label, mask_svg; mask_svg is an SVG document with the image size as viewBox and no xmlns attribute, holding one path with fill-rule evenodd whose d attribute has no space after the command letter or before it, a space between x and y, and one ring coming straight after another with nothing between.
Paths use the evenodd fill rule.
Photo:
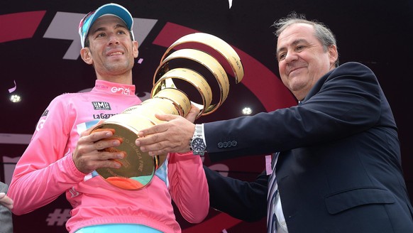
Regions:
<instances>
[{"instance_id":1,"label":"pink long-sleeved cycling jersey with La Gazzetta lettering","mask_svg":"<svg viewBox=\"0 0 413 233\"><path fill-rule=\"evenodd\" d=\"M13 213L23 215L62 193L72 205L69 232L96 224L144 224L161 232L181 232L172 200L185 220L204 220L209 193L202 160L192 153L170 153L142 190L117 188L97 175L81 173L72 159L82 131L101 119L140 104L134 85L97 80L91 92L62 94L38 121L31 143L13 173L8 195Z\"/></svg>"}]
</instances>

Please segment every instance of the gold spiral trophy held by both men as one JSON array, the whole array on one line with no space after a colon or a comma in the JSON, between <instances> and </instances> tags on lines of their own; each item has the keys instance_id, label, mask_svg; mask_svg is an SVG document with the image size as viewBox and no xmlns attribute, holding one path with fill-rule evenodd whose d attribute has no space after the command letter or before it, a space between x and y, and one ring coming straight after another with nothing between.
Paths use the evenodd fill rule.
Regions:
<instances>
[{"instance_id":1,"label":"gold spiral trophy held by both men","mask_svg":"<svg viewBox=\"0 0 413 233\"><path fill-rule=\"evenodd\" d=\"M116 160L121 168L98 168L97 173L111 185L126 190L140 190L148 185L167 155L143 153L135 145L138 131L163 123L155 113L187 116L191 104L200 109L197 117L211 114L228 97L230 72L236 83L241 82L241 59L224 40L207 33L192 33L172 43L155 71L150 99L111 116L92 130L114 130L113 138L119 139L121 145L106 151L126 154ZM211 88L211 82L216 88Z\"/></svg>"}]
</instances>

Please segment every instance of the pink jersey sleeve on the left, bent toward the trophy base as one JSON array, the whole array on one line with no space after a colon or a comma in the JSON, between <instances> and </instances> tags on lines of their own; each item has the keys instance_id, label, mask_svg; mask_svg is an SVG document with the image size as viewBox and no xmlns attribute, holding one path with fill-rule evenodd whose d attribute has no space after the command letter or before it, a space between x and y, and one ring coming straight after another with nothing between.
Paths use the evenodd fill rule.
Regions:
<instances>
[{"instance_id":1,"label":"pink jersey sleeve on the left, bent toward the trophy base","mask_svg":"<svg viewBox=\"0 0 413 233\"><path fill-rule=\"evenodd\" d=\"M16 164L8 193L16 215L47 205L84 178L67 149L74 113L63 96L53 99L40 116L31 142Z\"/></svg>"}]
</instances>

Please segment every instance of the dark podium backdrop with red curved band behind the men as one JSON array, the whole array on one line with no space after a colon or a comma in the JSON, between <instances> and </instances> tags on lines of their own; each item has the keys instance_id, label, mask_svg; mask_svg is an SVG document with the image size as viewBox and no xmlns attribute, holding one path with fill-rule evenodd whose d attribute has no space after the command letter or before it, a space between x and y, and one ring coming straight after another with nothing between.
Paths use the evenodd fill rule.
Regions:
<instances>
[{"instance_id":1,"label":"dark podium backdrop with red curved band behind the men","mask_svg":"<svg viewBox=\"0 0 413 233\"><path fill-rule=\"evenodd\" d=\"M0 179L10 183L13 168L25 150L40 115L48 103L64 92L81 92L94 86L91 66L79 58L77 26L85 13L111 1L1 1L0 6ZM410 196L413 193L412 120L408 104L413 75L413 1L334 2L233 0L228 1L114 1L135 18L139 57L133 67L138 96L148 98L153 74L166 48L177 38L193 32L211 33L236 48L246 76L230 91L224 105L197 121L207 122L241 116L244 106L253 114L288 107L294 98L278 78L272 23L290 11L304 13L326 23L336 34L340 62L368 65L382 85L395 114L402 144L402 165ZM23 101L9 102L9 89ZM265 166L264 155L212 164L234 178L253 180ZM412 199L412 198L411 198ZM70 205L61 195L34 212L13 216L15 232L66 232ZM182 231L266 232L265 219L242 222L210 210L201 224L189 224L176 211Z\"/></svg>"}]
</instances>

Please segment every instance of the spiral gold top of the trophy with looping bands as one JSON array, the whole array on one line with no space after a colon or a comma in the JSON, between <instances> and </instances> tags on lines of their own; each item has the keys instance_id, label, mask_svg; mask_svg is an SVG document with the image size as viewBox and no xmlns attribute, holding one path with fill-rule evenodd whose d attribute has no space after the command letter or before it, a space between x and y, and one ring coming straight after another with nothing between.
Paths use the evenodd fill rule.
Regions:
<instances>
[{"instance_id":1,"label":"spiral gold top of the trophy with looping bands","mask_svg":"<svg viewBox=\"0 0 413 233\"><path fill-rule=\"evenodd\" d=\"M192 47L190 47L192 45ZM197 46L198 45L198 46ZM204 50L199 45L204 45ZM183 48L182 48L183 47ZM189 47L189 48L188 48ZM195 47L195 48L194 48ZM181 48L175 50L176 48ZM231 67L231 70L225 70L221 65L220 61L222 59L216 58L211 55L211 50L219 53L221 58L224 58L225 62ZM182 61L183 60L183 61ZM186 63L185 63L186 61ZM191 63L188 63L191 61ZM176 67L182 67L182 63L187 65L189 69L197 69L199 75L203 79L198 79L196 82L189 81L189 75L181 73L180 75L173 76L171 71L175 70ZM204 67L206 69L199 69L199 67ZM205 70L208 70L205 72ZM204 72L202 72L204 71ZM209 73L208 73L209 72ZM239 58L236 51L226 43L221 38L212 36L207 33L192 33L186 36L182 36L172 43L169 48L165 51L163 58L161 59L160 65L155 71L153 77L153 90L151 96L158 93L160 90L166 87L179 88L173 81L174 79L185 80L190 82L202 96L203 104L199 104L192 101L192 104L196 105L200 109L201 115L211 114L214 112L228 97L229 92L229 83L228 83L228 73L232 72L233 77L235 77L236 83L241 82L244 76L243 65L241 63L241 58ZM175 72L174 72L175 73ZM167 76L167 77L165 77ZM207 77L213 76L219 86L219 90L215 94L209 92L209 90L202 90L201 86L204 85L204 82L210 83L211 80L207 80ZM216 95L219 95L217 99ZM204 101L204 98L206 102ZM190 98L192 99L192 98ZM212 102L211 104L206 104ZM198 117L199 117L198 116Z\"/></svg>"}]
</instances>

